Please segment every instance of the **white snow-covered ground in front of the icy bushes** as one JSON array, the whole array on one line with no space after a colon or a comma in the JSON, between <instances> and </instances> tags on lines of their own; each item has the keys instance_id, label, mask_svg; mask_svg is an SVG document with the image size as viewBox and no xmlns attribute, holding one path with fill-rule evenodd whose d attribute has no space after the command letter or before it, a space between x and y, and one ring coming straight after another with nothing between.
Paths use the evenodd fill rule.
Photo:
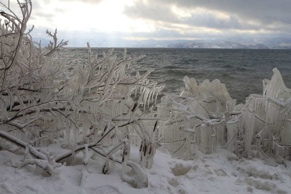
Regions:
<instances>
[{"instance_id":1,"label":"white snow-covered ground in front of the icy bushes","mask_svg":"<svg viewBox=\"0 0 291 194\"><path fill-rule=\"evenodd\" d=\"M55 153L59 145L45 148ZM135 189L121 179L121 166L109 175L101 172L102 160L90 159L87 181L81 183L82 153L74 166L59 168L60 177L49 177L34 166L11 167L10 161L23 157L0 151L0 194L291 194L291 162L287 167L273 159L258 157L237 160L225 149L196 159L183 161L157 150L153 167L146 170L148 187ZM131 160L138 160L138 150L131 149ZM128 169L130 170L130 169Z\"/></svg>"}]
</instances>

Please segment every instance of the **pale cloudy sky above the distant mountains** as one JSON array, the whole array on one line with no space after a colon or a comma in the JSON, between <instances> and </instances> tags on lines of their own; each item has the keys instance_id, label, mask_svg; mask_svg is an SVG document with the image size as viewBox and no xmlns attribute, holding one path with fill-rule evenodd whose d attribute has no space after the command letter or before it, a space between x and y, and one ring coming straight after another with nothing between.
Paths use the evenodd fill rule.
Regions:
<instances>
[{"instance_id":1,"label":"pale cloudy sky above the distant mountains","mask_svg":"<svg viewBox=\"0 0 291 194\"><path fill-rule=\"evenodd\" d=\"M43 38L46 29L55 28L68 39L262 41L291 37L291 0L32 0L32 3L29 23L35 26L33 36Z\"/></svg>"}]
</instances>

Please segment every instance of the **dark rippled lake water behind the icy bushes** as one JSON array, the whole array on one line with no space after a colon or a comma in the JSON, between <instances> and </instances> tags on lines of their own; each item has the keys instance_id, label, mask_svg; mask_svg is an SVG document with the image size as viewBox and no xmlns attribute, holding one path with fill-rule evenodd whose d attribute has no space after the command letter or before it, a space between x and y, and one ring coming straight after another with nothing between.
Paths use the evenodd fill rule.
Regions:
<instances>
[{"instance_id":1,"label":"dark rippled lake water behind the icy bushes","mask_svg":"<svg viewBox=\"0 0 291 194\"><path fill-rule=\"evenodd\" d=\"M108 48L95 48L101 57ZM230 96L244 102L249 94L262 93L262 80L271 79L277 67L287 87L291 88L291 50L276 49L155 49L129 48L128 57L146 54L133 68L141 73L155 71L149 78L165 85L164 92L178 93L184 86L183 77L193 77L198 83L219 79L226 84ZM70 48L69 63L86 63L87 49ZM121 58L123 49L114 49Z\"/></svg>"}]
</instances>

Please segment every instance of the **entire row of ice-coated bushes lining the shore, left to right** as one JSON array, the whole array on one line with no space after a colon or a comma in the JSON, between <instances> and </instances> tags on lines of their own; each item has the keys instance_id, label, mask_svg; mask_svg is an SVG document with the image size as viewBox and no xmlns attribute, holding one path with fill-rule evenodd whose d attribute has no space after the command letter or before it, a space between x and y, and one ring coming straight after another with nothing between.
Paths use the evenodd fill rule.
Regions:
<instances>
[{"instance_id":1,"label":"entire row of ice-coated bushes lining the shore, left to right","mask_svg":"<svg viewBox=\"0 0 291 194\"><path fill-rule=\"evenodd\" d=\"M263 81L262 95L250 95L245 104L237 105L219 80L198 85L186 76L184 90L162 97L154 111L150 105L162 86L147 79L153 70L129 71L145 55L128 58L125 49L119 61L110 49L98 58L88 43L88 62L72 69L59 55L67 41L47 30L52 41L46 48L33 42L33 26L27 29L32 1L16 1L22 16L0 0L0 147L24 155L17 166L35 164L58 175L61 163L74 165L82 151L81 186L90 160L101 158L102 173L119 164L123 180L142 188L156 145L183 159L218 145L239 157L253 149L283 164L291 157L291 90L276 68ZM64 153L41 148L60 138ZM131 145L139 147L140 164L130 161Z\"/></svg>"}]
</instances>

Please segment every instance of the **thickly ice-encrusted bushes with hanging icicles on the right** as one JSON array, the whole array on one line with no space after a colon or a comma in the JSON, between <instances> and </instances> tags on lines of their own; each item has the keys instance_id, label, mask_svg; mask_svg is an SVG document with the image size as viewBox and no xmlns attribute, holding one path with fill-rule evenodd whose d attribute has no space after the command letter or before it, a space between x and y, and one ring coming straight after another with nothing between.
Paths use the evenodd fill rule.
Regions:
<instances>
[{"instance_id":1,"label":"thickly ice-encrusted bushes with hanging icicles on the right","mask_svg":"<svg viewBox=\"0 0 291 194\"><path fill-rule=\"evenodd\" d=\"M211 153L221 145L245 157L256 148L284 163L291 149L291 90L279 70L273 72L271 80L263 80L262 95L250 95L239 105L219 80L197 85L185 76L180 95L162 97L158 104L159 117L169 118L159 126L166 148L175 154L181 150L178 155L186 159L195 155L196 146Z\"/></svg>"}]
</instances>

